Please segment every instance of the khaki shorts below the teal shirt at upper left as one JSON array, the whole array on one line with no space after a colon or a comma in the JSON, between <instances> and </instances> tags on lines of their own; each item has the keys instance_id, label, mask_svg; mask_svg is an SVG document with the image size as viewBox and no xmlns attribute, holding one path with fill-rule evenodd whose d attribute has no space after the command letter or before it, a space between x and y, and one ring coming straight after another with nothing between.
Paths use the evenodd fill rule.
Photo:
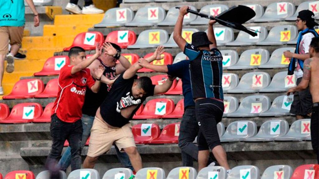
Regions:
<instances>
[{"instance_id":1,"label":"khaki shorts below the teal shirt at upper left","mask_svg":"<svg viewBox=\"0 0 319 179\"><path fill-rule=\"evenodd\" d=\"M13 26L1 26L0 27L0 55L6 55L9 52L9 40L10 45L21 46L23 37L24 26L13 27Z\"/></svg>"}]
</instances>

